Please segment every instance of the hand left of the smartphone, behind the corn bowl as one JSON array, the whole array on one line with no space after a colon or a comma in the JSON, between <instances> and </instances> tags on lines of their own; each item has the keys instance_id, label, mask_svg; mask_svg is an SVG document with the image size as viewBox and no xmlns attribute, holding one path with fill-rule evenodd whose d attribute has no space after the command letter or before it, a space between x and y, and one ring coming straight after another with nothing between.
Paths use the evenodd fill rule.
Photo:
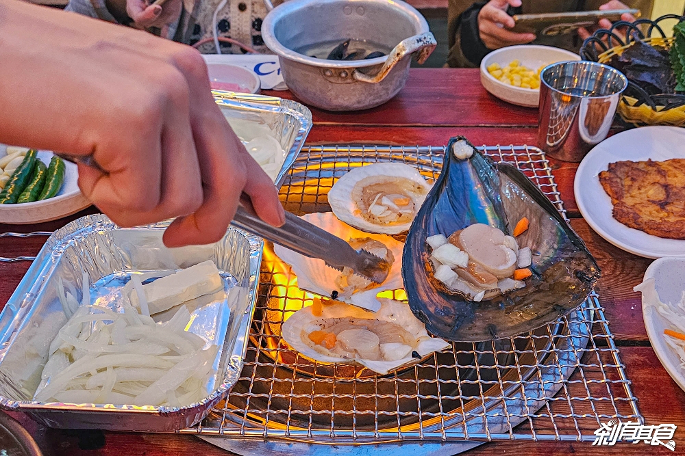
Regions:
<instances>
[{"instance_id":1,"label":"hand left of the smartphone, behind the corn bowl","mask_svg":"<svg viewBox=\"0 0 685 456\"><path fill-rule=\"evenodd\" d=\"M499 49L513 44L525 44L535 40L534 33L515 33L514 18L506 13L509 5L521 6L521 0L490 0L478 13L478 32L488 49Z\"/></svg>"}]
</instances>

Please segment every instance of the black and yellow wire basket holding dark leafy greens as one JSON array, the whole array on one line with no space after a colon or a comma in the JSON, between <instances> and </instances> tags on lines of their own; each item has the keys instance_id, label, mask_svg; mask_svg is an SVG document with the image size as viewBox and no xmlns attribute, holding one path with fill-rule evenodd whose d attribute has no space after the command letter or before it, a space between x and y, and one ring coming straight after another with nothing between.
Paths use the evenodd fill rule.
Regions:
<instances>
[{"instance_id":1,"label":"black and yellow wire basket holding dark leafy greens","mask_svg":"<svg viewBox=\"0 0 685 456\"><path fill-rule=\"evenodd\" d=\"M667 36L663 25L666 21L684 19L685 16L666 14L654 21L649 19L638 19L633 23L617 21L610 29L599 29L587 38L580 49L580 57L606 64L614 55L621 55L636 40L668 51L673 44L673 37ZM625 33L625 38L617 29ZM685 125L685 94L650 95L629 79L628 87L616 111L625 122L634 126L683 126Z\"/></svg>"}]
</instances>

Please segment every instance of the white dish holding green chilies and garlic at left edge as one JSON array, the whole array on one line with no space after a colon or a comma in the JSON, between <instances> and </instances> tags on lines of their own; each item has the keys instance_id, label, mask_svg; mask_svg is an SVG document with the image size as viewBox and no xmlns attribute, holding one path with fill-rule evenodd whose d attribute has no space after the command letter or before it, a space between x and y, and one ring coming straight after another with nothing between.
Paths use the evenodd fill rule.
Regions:
<instances>
[{"instance_id":1,"label":"white dish holding green chilies and garlic at left edge","mask_svg":"<svg viewBox=\"0 0 685 456\"><path fill-rule=\"evenodd\" d=\"M4 148L4 146L0 146ZM48 165L52 152L40 150L38 159ZM22 204L0 204L0 223L3 224L37 224L60 219L86 209L90 201L79 190L78 167L65 161L64 185L60 193L48 200L25 202Z\"/></svg>"}]
</instances>

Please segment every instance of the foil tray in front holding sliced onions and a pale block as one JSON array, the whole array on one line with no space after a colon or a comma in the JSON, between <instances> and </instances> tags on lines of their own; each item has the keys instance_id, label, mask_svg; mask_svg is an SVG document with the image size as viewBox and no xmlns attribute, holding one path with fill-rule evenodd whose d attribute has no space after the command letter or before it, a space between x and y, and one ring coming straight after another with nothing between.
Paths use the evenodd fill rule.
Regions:
<instances>
[{"instance_id":1,"label":"foil tray in front holding sliced onions and a pale block","mask_svg":"<svg viewBox=\"0 0 685 456\"><path fill-rule=\"evenodd\" d=\"M199 423L225 399L240 377L245 359L262 240L229 227L216 244L169 249L162 244L168 224L119 228L104 215L88 215L49 237L0 314L0 407L25 412L49 427L162 432ZM56 289L58 277L71 282L79 290L77 299L81 299L85 271L91 284L91 303L117 311L118 305L104 296L123 286L132 271L162 276L208 259L219 267L224 293L186 303L191 312L188 330L208 344L219 345L214 360L216 375L208 382L205 399L186 407L32 401L49 343L61 326L60 321L55 324L55 317L62 312Z\"/></svg>"}]
</instances>

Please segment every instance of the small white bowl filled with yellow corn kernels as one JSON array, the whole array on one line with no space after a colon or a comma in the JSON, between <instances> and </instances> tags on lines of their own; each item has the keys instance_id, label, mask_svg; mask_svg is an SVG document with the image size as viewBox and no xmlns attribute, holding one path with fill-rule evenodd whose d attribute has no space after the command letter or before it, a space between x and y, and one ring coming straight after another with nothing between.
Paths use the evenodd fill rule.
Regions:
<instances>
[{"instance_id":1,"label":"small white bowl filled with yellow corn kernels","mask_svg":"<svg viewBox=\"0 0 685 456\"><path fill-rule=\"evenodd\" d=\"M499 81L488 72L488 66L499 64L507 66L512 60L519 60L521 65L536 71L540 66L547 66L556 62L568 62L580 60L577 54L566 49L553 46L540 46L539 44L521 44L519 46L507 46L497 49L486 55L480 62L480 83L485 90L497 96L500 100L513 105L525 107L538 107L540 99L539 89L526 89L509 85Z\"/></svg>"}]
</instances>

